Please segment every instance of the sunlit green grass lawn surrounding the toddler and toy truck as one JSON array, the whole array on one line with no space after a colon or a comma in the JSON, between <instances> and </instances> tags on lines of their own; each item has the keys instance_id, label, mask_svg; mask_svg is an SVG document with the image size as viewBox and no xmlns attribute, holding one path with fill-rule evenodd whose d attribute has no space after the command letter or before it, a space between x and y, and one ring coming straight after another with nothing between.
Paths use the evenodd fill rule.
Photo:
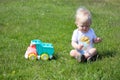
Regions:
<instances>
[{"instance_id":1,"label":"sunlit green grass lawn surrounding the toddler and toy truck","mask_svg":"<svg viewBox=\"0 0 120 80\"><path fill-rule=\"evenodd\" d=\"M119 80L119 0L0 0L0 80ZM69 56L76 28L75 11L92 12L101 59L78 63ZM24 53L32 39L54 45L56 59L29 61Z\"/></svg>"}]
</instances>

